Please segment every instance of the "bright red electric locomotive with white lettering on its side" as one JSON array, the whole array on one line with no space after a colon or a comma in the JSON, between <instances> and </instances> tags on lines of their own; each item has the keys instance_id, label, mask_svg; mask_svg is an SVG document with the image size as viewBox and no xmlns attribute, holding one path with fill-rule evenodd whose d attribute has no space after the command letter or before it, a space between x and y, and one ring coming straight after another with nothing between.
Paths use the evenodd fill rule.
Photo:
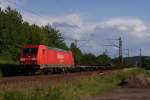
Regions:
<instances>
[{"instance_id":1,"label":"bright red electric locomotive with white lettering on its side","mask_svg":"<svg viewBox=\"0 0 150 100\"><path fill-rule=\"evenodd\" d=\"M74 67L74 57L67 50L45 45L25 45L21 50L20 64L30 70L64 70Z\"/></svg>"}]
</instances>

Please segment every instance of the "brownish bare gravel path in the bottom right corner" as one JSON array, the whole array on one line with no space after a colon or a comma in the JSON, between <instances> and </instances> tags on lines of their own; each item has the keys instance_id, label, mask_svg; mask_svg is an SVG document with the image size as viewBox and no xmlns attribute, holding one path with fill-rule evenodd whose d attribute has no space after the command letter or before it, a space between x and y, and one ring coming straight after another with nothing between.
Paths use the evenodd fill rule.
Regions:
<instances>
[{"instance_id":1,"label":"brownish bare gravel path in the bottom right corner","mask_svg":"<svg viewBox=\"0 0 150 100\"><path fill-rule=\"evenodd\" d=\"M150 88L117 88L84 100L150 100Z\"/></svg>"}]
</instances>

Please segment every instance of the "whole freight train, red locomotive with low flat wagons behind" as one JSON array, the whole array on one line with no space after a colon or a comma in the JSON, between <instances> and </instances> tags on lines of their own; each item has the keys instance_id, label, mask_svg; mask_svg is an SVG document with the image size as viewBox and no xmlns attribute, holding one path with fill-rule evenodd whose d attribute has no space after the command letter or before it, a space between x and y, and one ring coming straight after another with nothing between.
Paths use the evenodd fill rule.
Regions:
<instances>
[{"instance_id":1,"label":"whole freight train, red locomotive with low flat wagons behind","mask_svg":"<svg viewBox=\"0 0 150 100\"><path fill-rule=\"evenodd\" d=\"M45 45L25 45L21 49L20 68L27 72L76 72L91 71L105 66L76 65L70 50Z\"/></svg>"}]
</instances>

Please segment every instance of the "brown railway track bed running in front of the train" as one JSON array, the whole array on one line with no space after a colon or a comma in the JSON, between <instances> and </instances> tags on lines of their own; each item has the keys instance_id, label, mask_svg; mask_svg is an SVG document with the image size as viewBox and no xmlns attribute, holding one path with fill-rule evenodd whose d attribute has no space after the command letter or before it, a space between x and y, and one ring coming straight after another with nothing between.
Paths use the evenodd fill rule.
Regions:
<instances>
[{"instance_id":1,"label":"brown railway track bed running in front of the train","mask_svg":"<svg viewBox=\"0 0 150 100\"><path fill-rule=\"evenodd\" d=\"M97 70L91 72L76 72L65 74L51 74L51 75L36 75L36 76L15 76L0 78L0 89L16 89L24 88L26 86L36 86L49 83L50 85L57 84L60 81L73 81L74 79L82 79L92 75L103 75L110 73L112 70Z\"/></svg>"}]
</instances>

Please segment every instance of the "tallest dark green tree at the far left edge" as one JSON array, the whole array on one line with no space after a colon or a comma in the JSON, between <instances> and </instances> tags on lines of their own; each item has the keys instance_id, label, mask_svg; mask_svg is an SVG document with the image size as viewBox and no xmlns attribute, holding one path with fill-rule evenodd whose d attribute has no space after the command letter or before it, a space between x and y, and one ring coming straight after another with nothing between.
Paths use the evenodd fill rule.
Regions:
<instances>
[{"instance_id":1,"label":"tallest dark green tree at the far left edge","mask_svg":"<svg viewBox=\"0 0 150 100\"><path fill-rule=\"evenodd\" d=\"M1 45L2 53L10 53L13 59L19 55L19 48L25 42L22 32L22 16L8 7L5 11L1 10Z\"/></svg>"}]
</instances>

